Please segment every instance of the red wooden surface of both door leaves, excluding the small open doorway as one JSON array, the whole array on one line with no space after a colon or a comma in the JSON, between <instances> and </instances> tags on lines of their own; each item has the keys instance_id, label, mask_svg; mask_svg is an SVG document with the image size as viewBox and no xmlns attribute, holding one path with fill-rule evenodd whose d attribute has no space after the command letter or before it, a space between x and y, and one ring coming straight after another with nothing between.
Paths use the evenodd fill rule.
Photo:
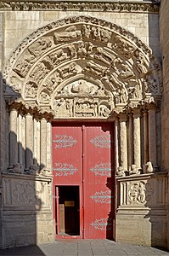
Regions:
<instances>
[{"instance_id":1,"label":"red wooden surface of both door leaves, excluding the small open doorway","mask_svg":"<svg viewBox=\"0 0 169 256\"><path fill-rule=\"evenodd\" d=\"M53 126L54 193L59 185L79 186L80 238L113 236L113 135L106 123Z\"/></svg>"}]
</instances>

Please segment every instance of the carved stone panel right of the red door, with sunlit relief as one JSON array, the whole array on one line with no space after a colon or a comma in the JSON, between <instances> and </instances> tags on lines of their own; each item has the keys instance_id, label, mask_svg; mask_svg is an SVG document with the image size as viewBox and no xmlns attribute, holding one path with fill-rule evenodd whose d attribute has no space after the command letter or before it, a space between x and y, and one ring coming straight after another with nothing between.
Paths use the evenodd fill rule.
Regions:
<instances>
[{"instance_id":1,"label":"carved stone panel right of the red door, with sunlit relief","mask_svg":"<svg viewBox=\"0 0 169 256\"><path fill-rule=\"evenodd\" d=\"M115 177L119 193L118 209L165 207L166 175L166 172L155 172Z\"/></svg>"}]
</instances>

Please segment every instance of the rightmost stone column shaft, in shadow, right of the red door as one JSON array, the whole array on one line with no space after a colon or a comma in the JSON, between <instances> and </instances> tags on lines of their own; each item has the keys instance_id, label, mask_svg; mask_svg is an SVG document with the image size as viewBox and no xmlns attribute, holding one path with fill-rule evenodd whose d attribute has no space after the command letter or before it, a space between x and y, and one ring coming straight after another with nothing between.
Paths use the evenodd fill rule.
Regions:
<instances>
[{"instance_id":1,"label":"rightmost stone column shaft, in shadow, right of the red door","mask_svg":"<svg viewBox=\"0 0 169 256\"><path fill-rule=\"evenodd\" d=\"M156 167L156 118L155 109L149 109L149 161Z\"/></svg>"}]
</instances>

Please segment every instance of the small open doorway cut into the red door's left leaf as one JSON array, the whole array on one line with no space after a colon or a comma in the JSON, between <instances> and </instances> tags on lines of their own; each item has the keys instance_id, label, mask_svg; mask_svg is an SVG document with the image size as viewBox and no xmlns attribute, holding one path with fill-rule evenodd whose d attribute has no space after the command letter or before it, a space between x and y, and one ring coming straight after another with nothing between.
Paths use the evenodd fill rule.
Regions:
<instances>
[{"instance_id":1,"label":"small open doorway cut into the red door's left leaf","mask_svg":"<svg viewBox=\"0 0 169 256\"><path fill-rule=\"evenodd\" d=\"M79 186L56 186L57 234L80 236Z\"/></svg>"}]
</instances>

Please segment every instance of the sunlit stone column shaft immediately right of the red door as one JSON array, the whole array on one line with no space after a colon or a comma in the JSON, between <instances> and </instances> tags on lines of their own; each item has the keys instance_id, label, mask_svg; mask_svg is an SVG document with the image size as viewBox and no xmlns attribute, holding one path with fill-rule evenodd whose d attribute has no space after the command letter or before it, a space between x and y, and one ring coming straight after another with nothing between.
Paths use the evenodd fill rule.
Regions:
<instances>
[{"instance_id":1,"label":"sunlit stone column shaft immediately right of the red door","mask_svg":"<svg viewBox=\"0 0 169 256\"><path fill-rule=\"evenodd\" d=\"M120 137L121 137L121 166L127 170L127 119L120 119Z\"/></svg>"}]
</instances>

